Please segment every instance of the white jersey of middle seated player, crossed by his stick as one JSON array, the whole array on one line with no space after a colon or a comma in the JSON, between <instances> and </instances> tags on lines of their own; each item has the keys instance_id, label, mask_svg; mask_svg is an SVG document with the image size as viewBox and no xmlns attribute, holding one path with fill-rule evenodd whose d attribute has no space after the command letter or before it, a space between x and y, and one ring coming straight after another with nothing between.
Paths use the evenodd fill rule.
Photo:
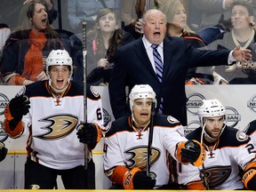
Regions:
<instances>
[{"instance_id":1,"label":"white jersey of middle seated player, crossed by his stick","mask_svg":"<svg viewBox=\"0 0 256 192\"><path fill-rule=\"evenodd\" d=\"M149 129L133 129L130 117L121 117L111 125L104 141L104 171L110 176L117 165L132 170L146 169ZM168 184L170 170L168 155L176 158L175 148L187 140L180 122L172 116L156 114L150 158L150 172L156 173L156 188Z\"/></svg>"}]
</instances>

